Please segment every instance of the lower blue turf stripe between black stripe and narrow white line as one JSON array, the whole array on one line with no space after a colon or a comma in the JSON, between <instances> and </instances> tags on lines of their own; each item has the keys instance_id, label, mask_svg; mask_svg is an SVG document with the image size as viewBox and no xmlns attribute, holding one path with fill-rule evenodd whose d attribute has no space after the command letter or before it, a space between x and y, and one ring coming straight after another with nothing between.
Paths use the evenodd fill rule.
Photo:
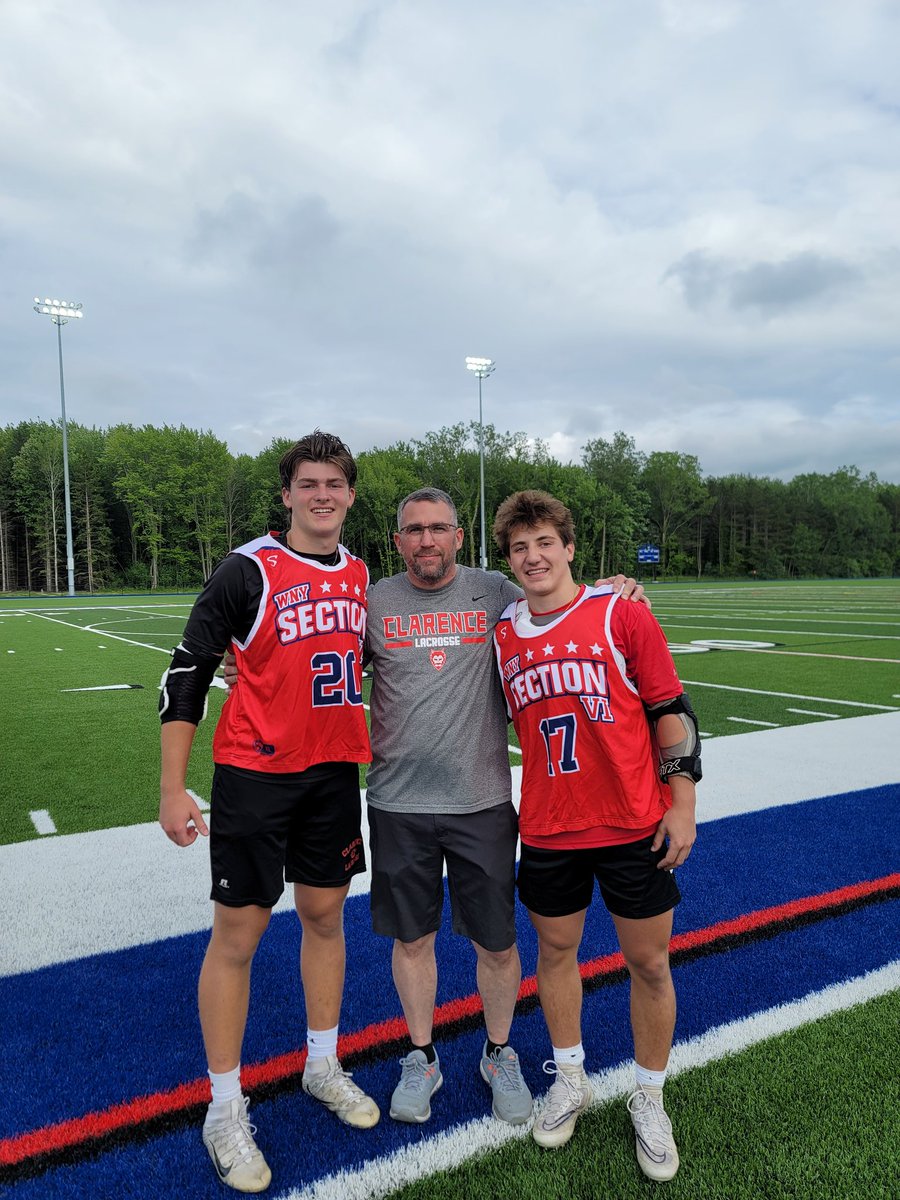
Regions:
<instances>
[{"instance_id":1,"label":"lower blue turf stripe between black stripe and narrow white line","mask_svg":"<svg viewBox=\"0 0 900 1200\"><path fill-rule=\"evenodd\" d=\"M678 1038L800 998L892 961L898 922L900 901L895 900L677 968ZM626 985L602 988L586 996L583 1024L592 1070L626 1060ZM515 1040L526 1078L540 1094L548 1084L541 1062L550 1049L540 1013L517 1019ZM442 1048L445 1084L425 1127L401 1126L385 1116L374 1129L355 1132L336 1126L330 1114L299 1092L257 1104L253 1120L260 1129L260 1145L277 1172L278 1190L340 1169L358 1169L400 1146L415 1145L442 1129L485 1115L490 1105L487 1088L478 1075L480 1046L481 1036L467 1033ZM360 1068L355 1078L386 1109L397 1074L395 1062L383 1062ZM5 1194L0 1190L0 1195ZM16 1186L16 1196L22 1200L120 1195L140 1200L221 1196L198 1129L152 1138Z\"/></svg>"}]
</instances>

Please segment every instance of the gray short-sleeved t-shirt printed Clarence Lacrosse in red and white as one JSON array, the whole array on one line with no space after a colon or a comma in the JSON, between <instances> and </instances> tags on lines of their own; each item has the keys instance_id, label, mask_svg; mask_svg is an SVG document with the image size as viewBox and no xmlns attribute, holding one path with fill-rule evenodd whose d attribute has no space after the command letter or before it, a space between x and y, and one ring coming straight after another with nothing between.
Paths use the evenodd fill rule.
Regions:
<instances>
[{"instance_id":1,"label":"gray short-sleeved t-shirt printed Clarence Lacrosse in red and white","mask_svg":"<svg viewBox=\"0 0 900 1200\"><path fill-rule=\"evenodd\" d=\"M370 587L366 798L374 808L475 812L509 800L506 708L492 638L521 595L499 571L461 565L433 592L406 572Z\"/></svg>"}]
</instances>

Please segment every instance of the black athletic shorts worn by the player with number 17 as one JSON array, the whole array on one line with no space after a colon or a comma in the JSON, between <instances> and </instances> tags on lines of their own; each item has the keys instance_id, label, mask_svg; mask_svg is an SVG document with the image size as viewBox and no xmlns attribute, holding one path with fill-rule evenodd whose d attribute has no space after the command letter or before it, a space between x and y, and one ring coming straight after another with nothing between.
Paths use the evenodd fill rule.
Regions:
<instances>
[{"instance_id":1,"label":"black athletic shorts worn by the player with number 17","mask_svg":"<svg viewBox=\"0 0 900 1200\"><path fill-rule=\"evenodd\" d=\"M652 851L653 838L593 850L522 846L518 899L539 917L569 917L588 907L596 880L614 917L640 919L668 912L682 894L673 872L656 869L666 846Z\"/></svg>"}]
</instances>

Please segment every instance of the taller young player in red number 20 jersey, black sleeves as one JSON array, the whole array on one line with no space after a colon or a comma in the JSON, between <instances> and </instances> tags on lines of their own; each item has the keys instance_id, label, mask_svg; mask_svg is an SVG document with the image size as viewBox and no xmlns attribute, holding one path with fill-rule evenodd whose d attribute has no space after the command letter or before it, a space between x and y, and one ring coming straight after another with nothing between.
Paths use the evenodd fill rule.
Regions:
<instances>
[{"instance_id":1,"label":"taller young player in red number 20 jersey, black sleeves","mask_svg":"<svg viewBox=\"0 0 900 1200\"><path fill-rule=\"evenodd\" d=\"M220 1180L239 1192L262 1192L271 1180L241 1092L240 1052L251 964L286 880L302 926L304 1091L356 1128L379 1118L337 1060L343 904L365 870L358 764L371 758L361 688L368 571L338 541L356 464L338 438L317 430L287 451L280 472L289 528L239 546L216 568L160 701L160 823L178 846L210 834L215 910L198 1000L212 1103L203 1140ZM229 648L241 686L216 726L210 832L185 779Z\"/></svg>"}]
</instances>

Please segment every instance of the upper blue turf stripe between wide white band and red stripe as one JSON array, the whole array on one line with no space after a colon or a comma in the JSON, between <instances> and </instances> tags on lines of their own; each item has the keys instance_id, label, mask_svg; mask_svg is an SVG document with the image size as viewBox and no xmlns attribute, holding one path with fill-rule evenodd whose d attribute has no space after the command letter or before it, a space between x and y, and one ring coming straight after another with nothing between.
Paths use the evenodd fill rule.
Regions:
<instances>
[{"instance_id":1,"label":"upper blue turf stripe between wide white band and red stripe","mask_svg":"<svg viewBox=\"0 0 900 1200\"><path fill-rule=\"evenodd\" d=\"M896 870L900 853L893 812L899 796L900 788L872 788L704 826L702 840L679 872L684 900L676 930L702 928ZM344 1031L398 1013L390 942L371 932L367 898L348 901L346 928ZM536 942L521 910L518 932L523 970L532 974ZM206 937L168 938L0 980L0 1008L7 1014L0 1135L202 1076L205 1063L196 980ZM276 914L253 968L245 1062L265 1061L302 1045L299 943L295 917ZM582 958L614 948L611 920L600 904L592 905ZM474 991L473 954L468 943L450 932L446 916L438 955L443 966L439 1002ZM116 1054L120 1038L113 1031L119 1030L127 1031L132 1044L144 1052ZM25 1061L31 1066L23 1094L20 1068Z\"/></svg>"}]
</instances>

